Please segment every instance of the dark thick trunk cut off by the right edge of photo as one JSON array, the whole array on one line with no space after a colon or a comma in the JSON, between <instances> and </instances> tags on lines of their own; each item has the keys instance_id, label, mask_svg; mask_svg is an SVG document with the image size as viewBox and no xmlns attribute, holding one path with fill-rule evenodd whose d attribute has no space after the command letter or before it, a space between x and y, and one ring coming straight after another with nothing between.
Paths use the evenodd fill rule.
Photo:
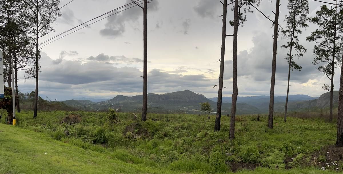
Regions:
<instances>
[{"instance_id":1,"label":"dark thick trunk cut off by the right edge of photo","mask_svg":"<svg viewBox=\"0 0 343 174\"><path fill-rule=\"evenodd\" d=\"M342 54L343 58L343 54ZM343 147L343 64L341 65L340 93L338 97L336 146Z\"/></svg>"}]
</instances>

